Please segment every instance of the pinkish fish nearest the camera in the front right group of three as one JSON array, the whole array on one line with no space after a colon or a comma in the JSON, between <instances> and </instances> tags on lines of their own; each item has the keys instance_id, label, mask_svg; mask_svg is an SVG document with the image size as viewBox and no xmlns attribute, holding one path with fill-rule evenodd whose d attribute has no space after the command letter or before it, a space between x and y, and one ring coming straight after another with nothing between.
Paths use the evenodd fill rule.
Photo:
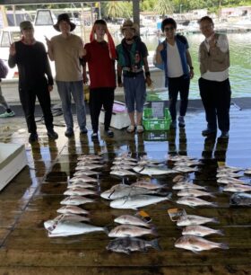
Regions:
<instances>
[{"instance_id":1,"label":"pinkish fish nearest the camera in the front right group of three","mask_svg":"<svg viewBox=\"0 0 251 275\"><path fill-rule=\"evenodd\" d=\"M211 250L212 248L229 249L228 244L214 243L195 235L184 235L177 239L175 247L191 250L198 253L203 250Z\"/></svg>"}]
</instances>

